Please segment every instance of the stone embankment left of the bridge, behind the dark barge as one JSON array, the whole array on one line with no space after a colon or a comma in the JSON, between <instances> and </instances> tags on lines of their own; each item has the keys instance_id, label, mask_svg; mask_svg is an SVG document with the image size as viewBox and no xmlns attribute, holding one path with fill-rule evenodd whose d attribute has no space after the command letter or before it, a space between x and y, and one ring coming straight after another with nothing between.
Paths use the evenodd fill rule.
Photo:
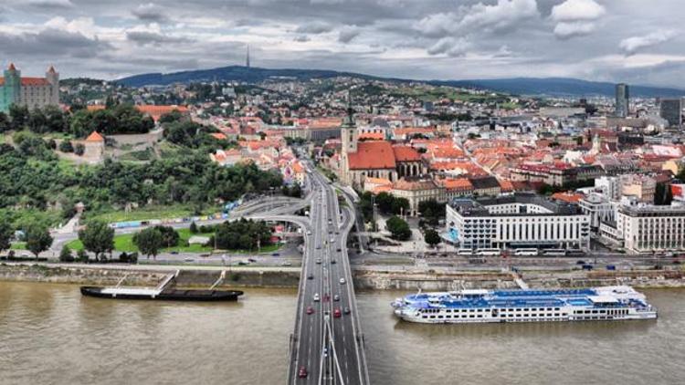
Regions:
<instances>
[{"instance_id":1,"label":"stone embankment left of the bridge, behind the dark barge","mask_svg":"<svg viewBox=\"0 0 685 385\"><path fill-rule=\"evenodd\" d=\"M152 266L113 265L45 265L0 264L0 280L113 286L124 278L124 286L157 286L164 276L174 269L155 269ZM184 269L176 279L177 286L207 287L220 276L219 269ZM233 270L217 288L225 287L293 287L300 280L298 269Z\"/></svg>"}]
</instances>

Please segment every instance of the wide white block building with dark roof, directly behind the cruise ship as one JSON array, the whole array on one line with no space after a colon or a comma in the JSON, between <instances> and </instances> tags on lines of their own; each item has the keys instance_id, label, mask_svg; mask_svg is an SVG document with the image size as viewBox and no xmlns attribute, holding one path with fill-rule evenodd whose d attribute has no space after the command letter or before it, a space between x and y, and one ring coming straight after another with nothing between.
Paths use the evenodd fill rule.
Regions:
<instances>
[{"instance_id":1,"label":"wide white block building with dark roof, directly behind the cruise ship","mask_svg":"<svg viewBox=\"0 0 685 385\"><path fill-rule=\"evenodd\" d=\"M456 200L447 206L447 233L461 248L567 248L590 245L590 215L532 193Z\"/></svg>"}]
</instances>

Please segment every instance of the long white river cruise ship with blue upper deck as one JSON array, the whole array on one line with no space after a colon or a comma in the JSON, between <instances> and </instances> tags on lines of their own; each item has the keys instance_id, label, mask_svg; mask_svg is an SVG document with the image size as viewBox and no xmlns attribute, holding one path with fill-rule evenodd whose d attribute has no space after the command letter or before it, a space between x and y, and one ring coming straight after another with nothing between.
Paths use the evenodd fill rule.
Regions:
<instances>
[{"instance_id":1,"label":"long white river cruise ship with blue upper deck","mask_svg":"<svg viewBox=\"0 0 685 385\"><path fill-rule=\"evenodd\" d=\"M630 286L417 293L392 303L410 322L481 323L653 319L657 309Z\"/></svg>"}]
</instances>

